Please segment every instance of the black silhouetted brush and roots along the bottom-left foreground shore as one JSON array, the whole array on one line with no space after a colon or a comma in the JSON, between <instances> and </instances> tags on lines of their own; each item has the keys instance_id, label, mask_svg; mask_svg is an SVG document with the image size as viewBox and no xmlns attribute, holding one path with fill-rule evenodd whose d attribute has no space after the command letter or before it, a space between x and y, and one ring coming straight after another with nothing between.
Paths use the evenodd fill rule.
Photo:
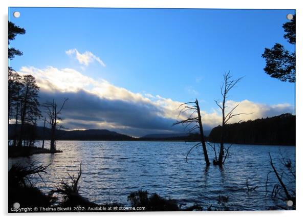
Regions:
<instances>
[{"instance_id":1,"label":"black silhouetted brush and roots along the bottom-left foreground shore","mask_svg":"<svg viewBox=\"0 0 308 220\"><path fill-rule=\"evenodd\" d=\"M78 182L82 173L81 163L77 177L69 174L69 182L61 180L58 188L45 194L32 184L30 175L37 174L41 178L40 173L47 172L47 169L48 166L30 164L29 167L16 165L9 170L9 212L16 212L12 208L16 202L20 204L20 209L27 208L27 212L202 210L202 207L197 204L181 208L181 205L178 205L176 200L166 199L157 193L150 194L146 190L131 192L127 196L127 201L131 204L130 207L120 203L93 203L79 194ZM35 211L35 207L43 207L44 209L39 208ZM141 207L142 209L140 209Z\"/></svg>"}]
</instances>

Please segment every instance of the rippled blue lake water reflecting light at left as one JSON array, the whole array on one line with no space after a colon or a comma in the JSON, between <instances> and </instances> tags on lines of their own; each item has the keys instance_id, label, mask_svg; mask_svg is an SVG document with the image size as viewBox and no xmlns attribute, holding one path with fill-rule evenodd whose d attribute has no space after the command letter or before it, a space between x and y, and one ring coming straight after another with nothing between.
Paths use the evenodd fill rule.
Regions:
<instances>
[{"instance_id":1,"label":"rippled blue lake water reflecting light at left","mask_svg":"<svg viewBox=\"0 0 308 220\"><path fill-rule=\"evenodd\" d=\"M286 168L281 164L279 149L295 161L294 146L234 144L223 168L212 164L206 168L201 147L192 150L188 162L185 161L193 145L185 142L58 141L57 149L63 153L9 159L9 168L15 163L51 164L48 173L42 173L45 183L32 177L35 186L48 192L59 187L61 179L68 179L68 173L76 176L82 162L80 194L99 204L129 205L127 196L139 189L176 199L184 206L198 203L204 209L210 205L219 207L219 195L229 196L227 206L231 210L265 210L282 203L265 200L267 174L272 170L268 152L282 173ZM212 161L213 150L207 148ZM247 192L247 179L251 187L259 187ZM276 183L272 172L269 191ZM286 181L286 184L295 189L295 182Z\"/></svg>"}]
</instances>

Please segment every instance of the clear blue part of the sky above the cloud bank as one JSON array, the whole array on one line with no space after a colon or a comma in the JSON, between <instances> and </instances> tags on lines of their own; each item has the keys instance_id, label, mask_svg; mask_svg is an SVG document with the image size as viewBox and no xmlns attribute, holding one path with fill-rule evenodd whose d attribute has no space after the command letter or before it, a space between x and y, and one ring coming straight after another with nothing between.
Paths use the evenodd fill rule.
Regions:
<instances>
[{"instance_id":1,"label":"clear blue part of the sky above the cloud bank","mask_svg":"<svg viewBox=\"0 0 308 220\"><path fill-rule=\"evenodd\" d=\"M261 57L276 42L294 50L282 28L294 10L11 8L9 14L14 11L20 17L11 21L26 29L12 41L24 52L10 62L17 71L73 69L134 94L197 98L207 113L217 108L222 75L230 71L245 76L231 100L294 109L295 83L268 76ZM73 49L91 52L105 67L65 53Z\"/></svg>"}]
</instances>

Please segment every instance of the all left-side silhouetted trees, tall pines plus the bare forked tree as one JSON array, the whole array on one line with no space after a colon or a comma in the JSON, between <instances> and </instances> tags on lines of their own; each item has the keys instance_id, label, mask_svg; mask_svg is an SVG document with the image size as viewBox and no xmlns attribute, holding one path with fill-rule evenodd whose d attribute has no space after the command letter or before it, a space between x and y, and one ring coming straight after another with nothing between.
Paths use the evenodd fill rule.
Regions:
<instances>
[{"instance_id":1,"label":"all left-side silhouetted trees, tall pines plus the bare forked tree","mask_svg":"<svg viewBox=\"0 0 308 220\"><path fill-rule=\"evenodd\" d=\"M17 34L25 34L26 31L9 21L8 24L9 50L8 58L13 59L15 56L23 55L23 52L10 47L11 41ZM55 130L59 129L58 125L61 118L61 110L64 103L57 108L57 103L46 102L40 105L38 102L39 87L32 75L20 76L12 67L8 68L8 124L14 124L13 137L10 138L11 146L34 146L36 140L36 124L42 118L40 107L45 107L48 123L51 131L51 151L55 150L56 135ZM46 120L45 120L46 122Z\"/></svg>"}]
</instances>

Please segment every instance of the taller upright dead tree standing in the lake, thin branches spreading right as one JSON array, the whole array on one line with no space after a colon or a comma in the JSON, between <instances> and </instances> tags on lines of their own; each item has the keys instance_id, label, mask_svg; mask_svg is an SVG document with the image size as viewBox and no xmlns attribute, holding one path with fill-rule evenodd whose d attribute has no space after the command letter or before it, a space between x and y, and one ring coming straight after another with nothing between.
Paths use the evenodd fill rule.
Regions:
<instances>
[{"instance_id":1,"label":"taller upright dead tree standing in the lake, thin branches spreading right","mask_svg":"<svg viewBox=\"0 0 308 220\"><path fill-rule=\"evenodd\" d=\"M222 166L223 163L225 162L226 160L226 157L224 158L224 155L225 155L225 147L224 147L224 138L225 138L225 125L228 123L228 121L235 117L235 116L239 116L239 115L250 115L252 113L237 113L237 114L234 114L234 110L237 108L237 105L235 105L230 112L226 113L226 101L227 101L227 98L228 98L228 93L230 92L230 90L236 86L236 84L242 79L243 77L240 77L240 78L237 78L237 79L232 79L232 75L230 74L230 72L228 73L225 73L224 74L224 82L223 82L223 85L221 86L221 94L222 94L222 97L223 97L223 101L222 102L219 102L219 101L216 101L215 100L215 103L218 105L218 107L221 109L222 111L222 117L223 117L223 120L222 120L222 134L221 134L221 143L220 143L220 147L219 147L219 156L218 156L218 160L217 158L215 158L213 160L213 164L217 164L219 166ZM228 150L229 150L230 146L228 147Z\"/></svg>"}]
</instances>

